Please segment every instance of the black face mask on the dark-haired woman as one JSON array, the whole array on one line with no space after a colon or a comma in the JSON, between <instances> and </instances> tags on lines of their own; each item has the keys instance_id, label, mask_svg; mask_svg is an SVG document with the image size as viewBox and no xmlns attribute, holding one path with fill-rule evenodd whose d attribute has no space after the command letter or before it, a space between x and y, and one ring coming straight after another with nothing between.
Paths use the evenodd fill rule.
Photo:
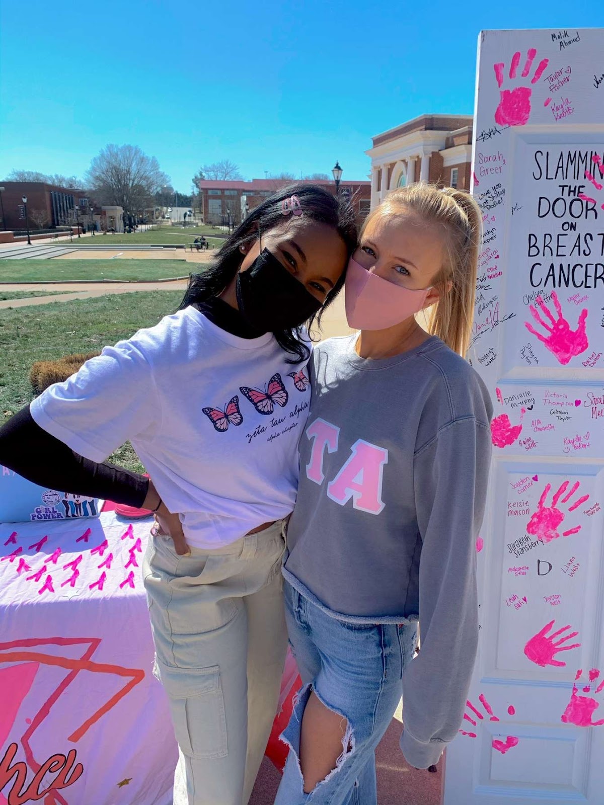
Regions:
<instances>
[{"instance_id":1,"label":"black face mask on the dark-haired woman","mask_svg":"<svg viewBox=\"0 0 604 805\"><path fill-rule=\"evenodd\" d=\"M238 273L235 291L243 318L261 332L300 327L321 308L321 302L268 249Z\"/></svg>"}]
</instances>

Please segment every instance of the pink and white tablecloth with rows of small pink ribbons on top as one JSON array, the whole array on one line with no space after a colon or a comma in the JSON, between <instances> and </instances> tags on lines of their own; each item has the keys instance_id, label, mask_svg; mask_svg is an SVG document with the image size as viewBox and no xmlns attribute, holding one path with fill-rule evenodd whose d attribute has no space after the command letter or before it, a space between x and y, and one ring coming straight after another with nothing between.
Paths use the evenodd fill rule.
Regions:
<instances>
[{"instance_id":1,"label":"pink and white tablecloth with rows of small pink ribbons on top","mask_svg":"<svg viewBox=\"0 0 604 805\"><path fill-rule=\"evenodd\" d=\"M0 805L167 805L176 742L141 564L151 519L0 525Z\"/></svg>"}]
</instances>

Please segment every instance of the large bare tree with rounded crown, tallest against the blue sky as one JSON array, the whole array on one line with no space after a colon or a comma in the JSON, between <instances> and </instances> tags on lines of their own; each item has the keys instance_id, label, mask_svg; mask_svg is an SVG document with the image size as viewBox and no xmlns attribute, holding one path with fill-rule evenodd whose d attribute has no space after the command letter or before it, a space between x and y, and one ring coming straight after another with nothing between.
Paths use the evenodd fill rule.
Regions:
<instances>
[{"instance_id":1,"label":"large bare tree with rounded crown, tallest against the blue sky","mask_svg":"<svg viewBox=\"0 0 604 805\"><path fill-rule=\"evenodd\" d=\"M170 179L138 146L110 144L90 163L86 182L101 204L117 204L134 215L152 204Z\"/></svg>"}]
</instances>

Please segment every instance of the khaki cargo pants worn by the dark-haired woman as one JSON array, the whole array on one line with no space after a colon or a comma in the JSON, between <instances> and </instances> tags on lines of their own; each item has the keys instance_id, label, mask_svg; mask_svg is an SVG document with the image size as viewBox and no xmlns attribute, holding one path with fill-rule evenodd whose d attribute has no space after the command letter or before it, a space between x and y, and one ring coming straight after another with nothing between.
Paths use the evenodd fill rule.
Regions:
<instances>
[{"instance_id":1,"label":"khaki cargo pants worn by the dark-haired woman","mask_svg":"<svg viewBox=\"0 0 604 805\"><path fill-rule=\"evenodd\" d=\"M143 577L155 675L179 745L174 805L246 805L271 732L287 650L279 521L179 556L152 536Z\"/></svg>"}]
</instances>

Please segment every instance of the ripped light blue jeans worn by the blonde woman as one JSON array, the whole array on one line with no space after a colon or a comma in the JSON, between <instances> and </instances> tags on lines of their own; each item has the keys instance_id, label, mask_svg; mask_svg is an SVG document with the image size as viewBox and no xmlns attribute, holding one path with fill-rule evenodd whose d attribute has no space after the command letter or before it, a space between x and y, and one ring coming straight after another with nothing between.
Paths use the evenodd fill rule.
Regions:
<instances>
[{"instance_id":1,"label":"ripped light blue jeans worn by the blonde woman","mask_svg":"<svg viewBox=\"0 0 604 805\"><path fill-rule=\"evenodd\" d=\"M282 740L288 762L275 805L377 805L375 748L399 704L417 623L358 624L325 613L283 583L292 651L304 687ZM348 721L335 769L308 794L300 770L300 726L311 691Z\"/></svg>"}]
</instances>

